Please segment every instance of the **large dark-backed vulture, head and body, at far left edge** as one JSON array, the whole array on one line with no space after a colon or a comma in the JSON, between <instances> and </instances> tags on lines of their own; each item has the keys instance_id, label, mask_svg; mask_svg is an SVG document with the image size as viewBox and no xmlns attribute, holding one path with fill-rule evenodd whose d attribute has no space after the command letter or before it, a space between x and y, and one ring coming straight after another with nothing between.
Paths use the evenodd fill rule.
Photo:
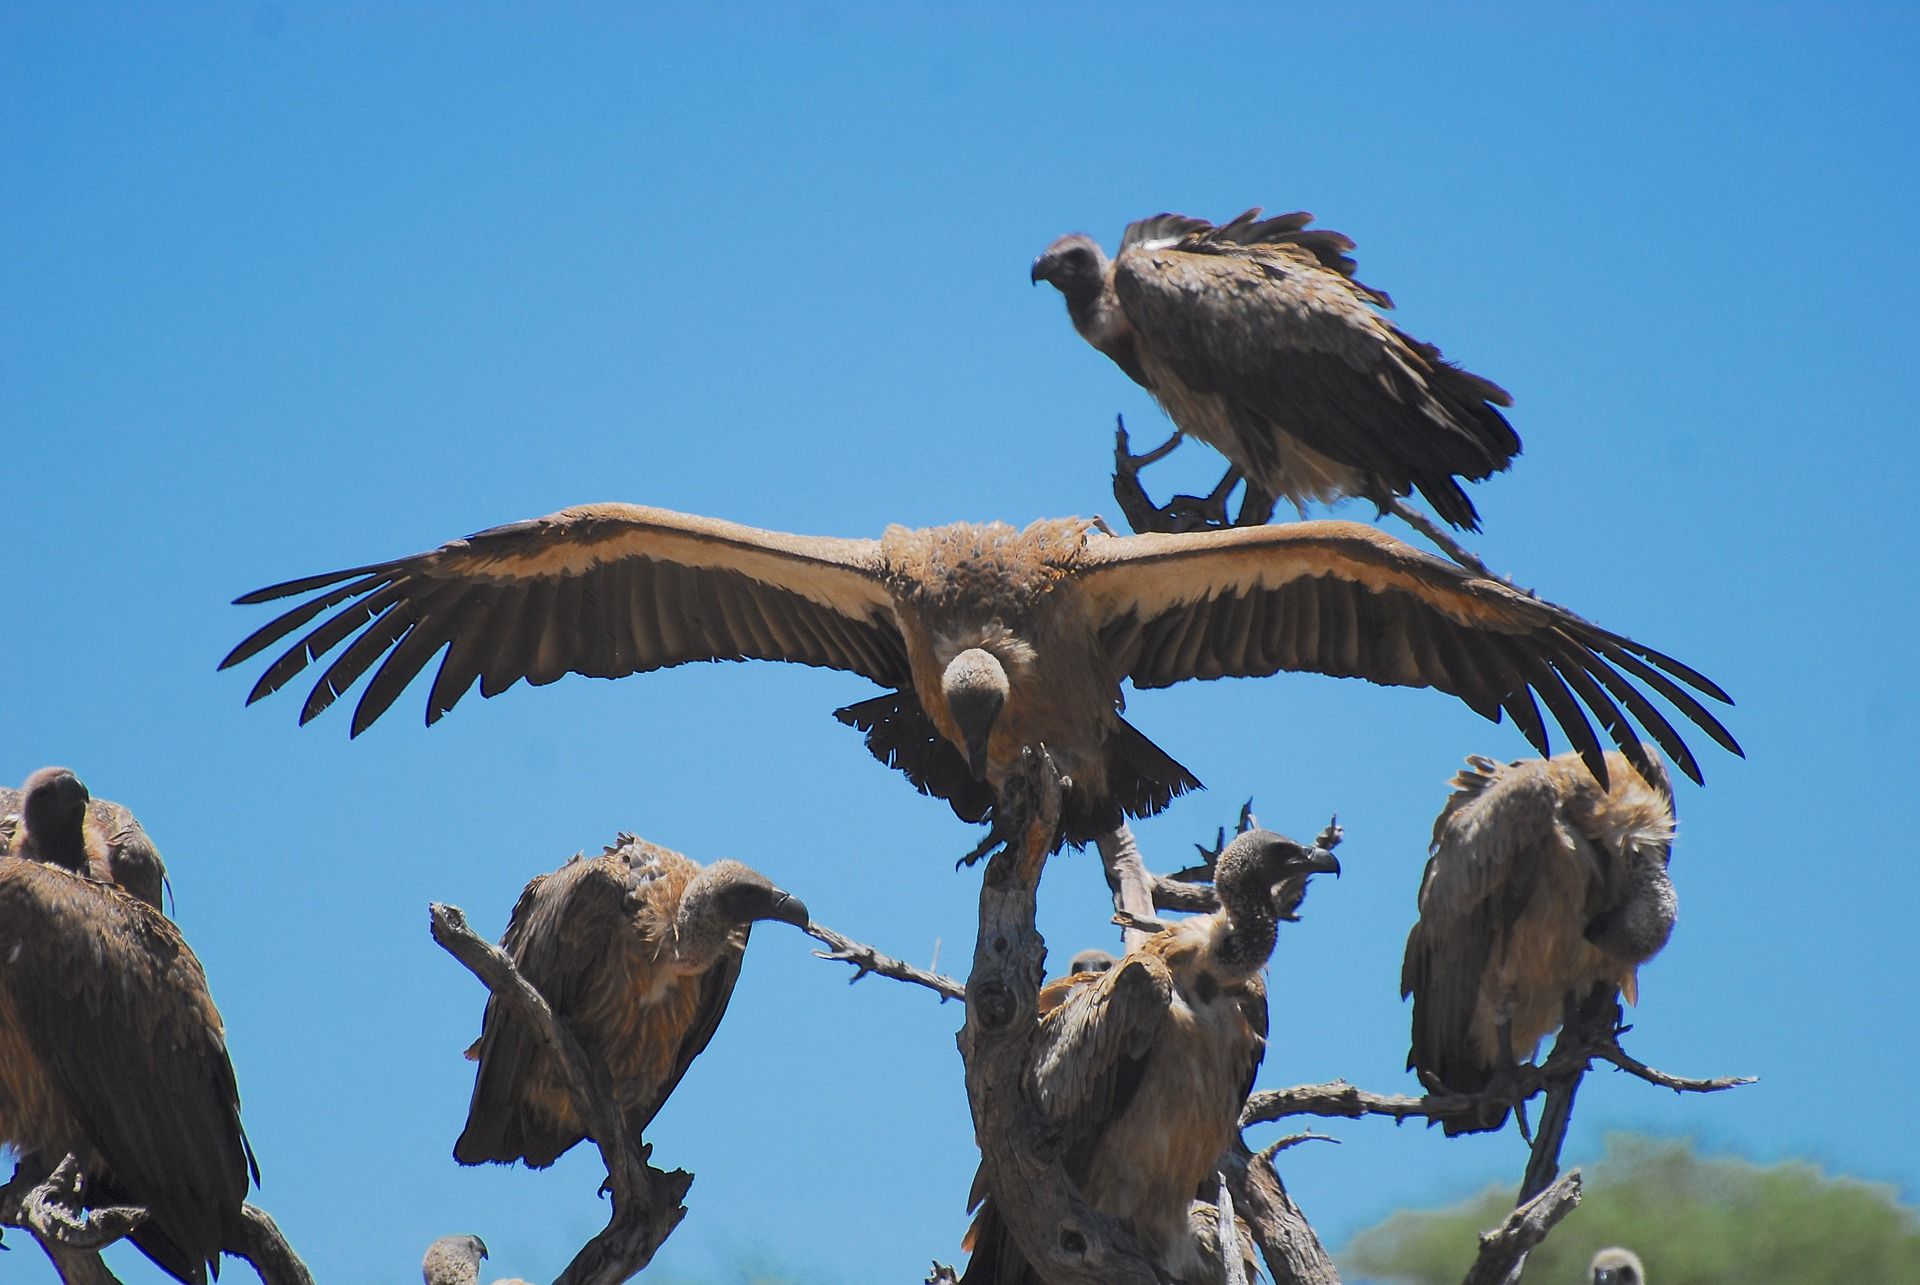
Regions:
<instances>
[{"instance_id":1,"label":"large dark-backed vulture, head and body, at far left edge","mask_svg":"<svg viewBox=\"0 0 1920 1285\"><path fill-rule=\"evenodd\" d=\"M200 960L88 878L86 805L73 772L35 772L0 857L0 1145L48 1170L77 1156L84 1202L144 1206L129 1239L202 1285L259 1168Z\"/></svg>"}]
</instances>

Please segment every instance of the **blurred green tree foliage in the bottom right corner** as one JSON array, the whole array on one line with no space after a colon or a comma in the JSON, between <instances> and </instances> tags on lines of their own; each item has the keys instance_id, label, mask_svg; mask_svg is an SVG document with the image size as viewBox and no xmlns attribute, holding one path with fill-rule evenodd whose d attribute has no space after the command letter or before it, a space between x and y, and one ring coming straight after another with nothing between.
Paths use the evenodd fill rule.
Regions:
<instances>
[{"instance_id":1,"label":"blurred green tree foliage in the bottom right corner","mask_svg":"<svg viewBox=\"0 0 1920 1285\"><path fill-rule=\"evenodd\" d=\"M1891 1187L1828 1177L1801 1160L1707 1158L1688 1141L1634 1135L1609 1137L1582 1176L1580 1206L1526 1260L1523 1285L1584 1281L1605 1245L1638 1252L1651 1285L1920 1285L1920 1214ZM1511 1200L1511 1189L1494 1189L1455 1208L1394 1214L1354 1237L1340 1270L1452 1285Z\"/></svg>"}]
</instances>

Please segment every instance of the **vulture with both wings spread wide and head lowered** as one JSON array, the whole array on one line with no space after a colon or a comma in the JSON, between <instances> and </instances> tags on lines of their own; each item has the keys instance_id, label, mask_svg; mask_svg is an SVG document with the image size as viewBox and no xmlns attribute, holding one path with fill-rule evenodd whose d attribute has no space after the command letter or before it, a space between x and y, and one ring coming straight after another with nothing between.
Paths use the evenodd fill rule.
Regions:
<instances>
[{"instance_id":1,"label":"vulture with both wings spread wide and head lowered","mask_svg":"<svg viewBox=\"0 0 1920 1285\"><path fill-rule=\"evenodd\" d=\"M1308 670L1438 688L1548 753L1538 695L1596 776L1582 705L1628 759L1645 759L1632 718L1699 780L1645 686L1740 753L1688 688L1730 697L1693 668L1357 522L1108 536L1043 519L843 540L603 503L238 601L276 599L296 601L221 668L292 640L252 703L340 647L301 722L371 670L357 736L442 653L426 722L476 680L497 695L687 661L824 665L887 688L837 716L964 820L987 818L1020 751L1044 743L1071 780L1075 845L1200 784L1119 716L1121 680Z\"/></svg>"}]
</instances>

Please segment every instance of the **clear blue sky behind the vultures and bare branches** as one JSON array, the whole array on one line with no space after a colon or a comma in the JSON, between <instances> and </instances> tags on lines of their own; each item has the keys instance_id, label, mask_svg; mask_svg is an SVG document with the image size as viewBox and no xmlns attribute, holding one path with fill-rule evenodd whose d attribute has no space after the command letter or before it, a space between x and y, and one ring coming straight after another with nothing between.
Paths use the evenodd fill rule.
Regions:
<instances>
[{"instance_id":1,"label":"clear blue sky behind the vultures and bare branches","mask_svg":"<svg viewBox=\"0 0 1920 1285\"><path fill-rule=\"evenodd\" d=\"M528 876L634 830L958 970L975 836L833 722L854 676L570 678L432 730L415 691L348 741L286 693L242 707L253 670L213 665L265 613L228 601L589 499L849 536L1117 517L1114 415L1164 421L1027 263L1160 209L1311 209L1515 394L1478 551L1738 697L1749 759L1699 738L1628 1047L1763 1079L1599 1074L1567 1158L1692 1133L1912 1200L1916 35L1907 6L0 4L0 780L65 763L146 820L257 1200L321 1279L411 1279L451 1231L551 1279L599 1168L451 1162L482 993L428 901L497 933ZM1160 486L1215 469L1188 446ZM1261 1085L1411 1089L1427 832L1457 761L1519 734L1313 676L1129 716L1212 788L1139 828L1152 864L1248 795L1346 824L1275 957ZM1104 897L1091 857L1048 870L1060 958L1112 943ZM655 1126L697 1174L662 1279L958 1256L960 1008L806 945L755 935ZM1325 1129L1283 1174L1331 1243L1524 1162L1511 1133ZM29 1247L6 1273L52 1279Z\"/></svg>"}]
</instances>

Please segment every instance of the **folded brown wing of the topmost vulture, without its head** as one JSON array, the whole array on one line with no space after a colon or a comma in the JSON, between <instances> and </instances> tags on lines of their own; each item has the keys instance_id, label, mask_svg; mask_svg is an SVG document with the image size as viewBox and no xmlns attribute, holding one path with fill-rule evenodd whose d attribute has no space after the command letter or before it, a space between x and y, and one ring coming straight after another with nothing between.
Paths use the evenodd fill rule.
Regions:
<instances>
[{"instance_id":1,"label":"folded brown wing of the topmost vulture, without its head","mask_svg":"<svg viewBox=\"0 0 1920 1285\"><path fill-rule=\"evenodd\" d=\"M1513 400L1380 317L1390 300L1354 280L1346 236L1306 230L1309 215L1258 213L1171 244L1181 221L1150 227L1160 234L1121 248L1114 292L1137 344L1194 394L1242 411L1236 442L1221 446L1256 476L1277 459L1279 428L1396 492L1419 486L1473 526L1452 478L1484 478L1519 453L1496 409Z\"/></svg>"}]
</instances>

